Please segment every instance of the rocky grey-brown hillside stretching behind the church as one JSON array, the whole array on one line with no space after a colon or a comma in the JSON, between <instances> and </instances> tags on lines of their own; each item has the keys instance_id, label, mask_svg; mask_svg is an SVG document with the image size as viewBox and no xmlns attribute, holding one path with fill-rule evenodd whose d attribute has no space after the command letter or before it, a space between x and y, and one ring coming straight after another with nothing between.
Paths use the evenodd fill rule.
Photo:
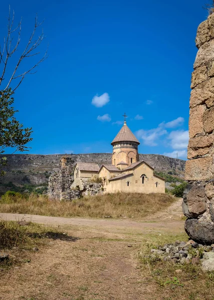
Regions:
<instances>
[{"instance_id":1,"label":"rocky grey-brown hillside stretching behind the church","mask_svg":"<svg viewBox=\"0 0 214 300\"><path fill-rule=\"evenodd\" d=\"M21 186L25 184L42 185L48 182L50 174L59 169L59 161L62 154L39 155L39 154L5 154L8 165L5 168L6 175L0 177L0 191L5 191L5 185L12 182ZM111 153L72 154L74 161L111 163ZM182 176L185 160L175 159L157 154L139 154L140 160L145 160L157 171L173 171ZM10 187L10 186L9 186Z\"/></svg>"}]
</instances>

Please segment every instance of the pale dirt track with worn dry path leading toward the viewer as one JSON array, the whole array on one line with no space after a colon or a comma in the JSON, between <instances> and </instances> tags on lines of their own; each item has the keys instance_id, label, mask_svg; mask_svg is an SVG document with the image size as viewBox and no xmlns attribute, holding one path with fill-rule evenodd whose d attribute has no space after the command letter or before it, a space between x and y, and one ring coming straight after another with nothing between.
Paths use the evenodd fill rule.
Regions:
<instances>
[{"instance_id":1,"label":"pale dirt track with worn dry path leading toward the viewer","mask_svg":"<svg viewBox=\"0 0 214 300\"><path fill-rule=\"evenodd\" d=\"M164 219L166 212L161 213ZM137 252L151 236L179 236L184 231L183 221L156 221L157 215L147 221L11 213L0 213L0 218L52 224L77 237L53 240L47 248L27 252L30 263L1 277L1 300L162 299L138 268Z\"/></svg>"}]
</instances>

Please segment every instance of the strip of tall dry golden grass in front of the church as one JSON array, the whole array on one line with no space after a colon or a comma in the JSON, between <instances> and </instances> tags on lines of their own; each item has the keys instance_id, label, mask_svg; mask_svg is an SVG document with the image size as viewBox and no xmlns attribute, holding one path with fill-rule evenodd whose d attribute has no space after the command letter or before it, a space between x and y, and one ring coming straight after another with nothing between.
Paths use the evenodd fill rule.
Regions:
<instances>
[{"instance_id":1,"label":"strip of tall dry golden grass in front of the church","mask_svg":"<svg viewBox=\"0 0 214 300\"><path fill-rule=\"evenodd\" d=\"M29 198L12 196L0 199L0 211L63 217L141 218L167 206L174 197L168 194L113 193L85 196L73 201L53 201L42 195Z\"/></svg>"}]
</instances>

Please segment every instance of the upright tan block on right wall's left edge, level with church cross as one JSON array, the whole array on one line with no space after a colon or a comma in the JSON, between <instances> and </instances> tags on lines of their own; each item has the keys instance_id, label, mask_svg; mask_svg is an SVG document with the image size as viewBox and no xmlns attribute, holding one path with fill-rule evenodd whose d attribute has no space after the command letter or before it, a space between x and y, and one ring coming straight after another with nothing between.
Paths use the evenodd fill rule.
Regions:
<instances>
[{"instance_id":1,"label":"upright tan block on right wall's left edge, level with church cross","mask_svg":"<svg viewBox=\"0 0 214 300\"><path fill-rule=\"evenodd\" d=\"M203 131L203 113L205 105L190 108L189 111L189 138Z\"/></svg>"}]
</instances>

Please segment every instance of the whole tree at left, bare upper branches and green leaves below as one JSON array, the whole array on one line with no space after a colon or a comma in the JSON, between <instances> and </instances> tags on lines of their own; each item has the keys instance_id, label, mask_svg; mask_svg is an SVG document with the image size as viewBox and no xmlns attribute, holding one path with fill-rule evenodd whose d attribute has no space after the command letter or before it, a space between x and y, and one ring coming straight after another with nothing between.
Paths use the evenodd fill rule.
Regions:
<instances>
[{"instance_id":1,"label":"whole tree at left, bare upper branches and green leaves below","mask_svg":"<svg viewBox=\"0 0 214 300\"><path fill-rule=\"evenodd\" d=\"M2 11L1 11L2 12ZM43 22L42 22L43 23ZM35 68L47 58L47 51L40 56L39 46L44 39L44 33L37 35L38 27L42 25L38 22L37 16L33 26L32 33L24 44L21 43L22 19L15 26L15 13L11 13L9 6L8 24L6 26L5 36L0 42L0 154L3 154L6 148L14 148L14 152L26 151L29 147L26 144L32 140L32 128L24 128L14 116L18 110L13 107L14 91L20 86L23 79L28 75L35 73ZM36 37L37 36L37 37ZM22 40L23 41L23 40ZM31 61L31 59L34 56ZM36 59L36 57L40 57ZM23 61L27 60L27 69ZM7 159L0 156L0 176L3 175Z\"/></svg>"}]
</instances>

